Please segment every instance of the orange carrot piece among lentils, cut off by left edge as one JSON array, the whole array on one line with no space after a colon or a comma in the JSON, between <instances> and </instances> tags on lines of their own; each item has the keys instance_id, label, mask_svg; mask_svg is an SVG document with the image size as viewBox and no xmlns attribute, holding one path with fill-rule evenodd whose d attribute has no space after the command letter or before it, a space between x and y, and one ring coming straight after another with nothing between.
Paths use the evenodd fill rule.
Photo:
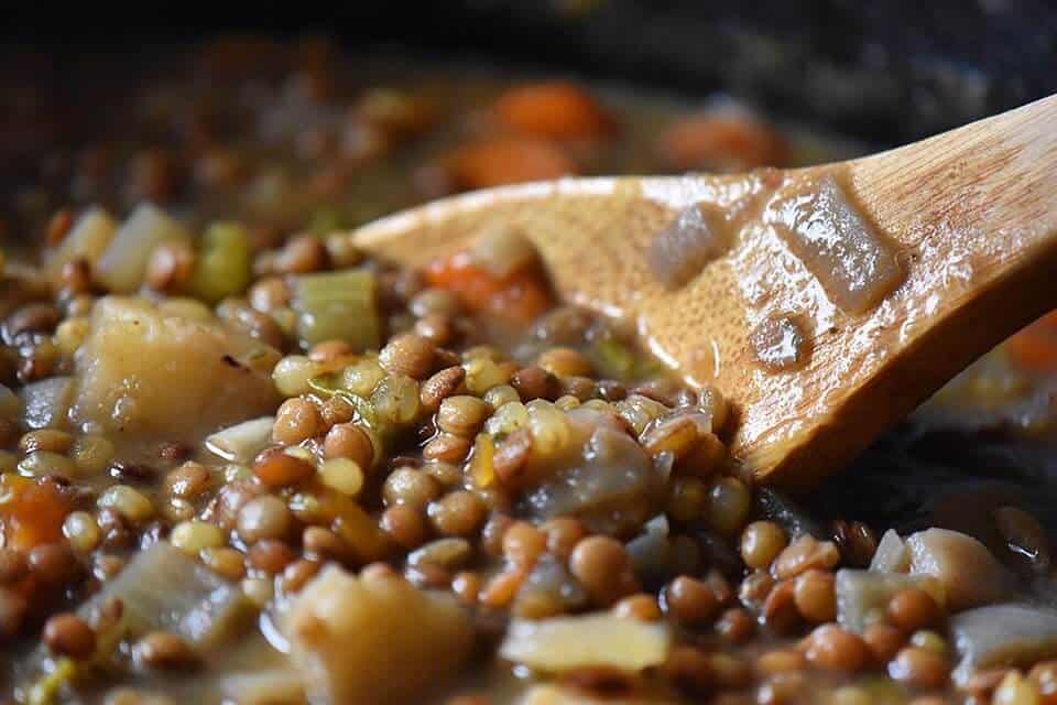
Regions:
<instances>
[{"instance_id":1,"label":"orange carrot piece among lentils, cut off by left edge","mask_svg":"<svg viewBox=\"0 0 1057 705\"><path fill-rule=\"evenodd\" d=\"M0 503L0 521L8 547L29 551L63 539L63 520L73 507L55 485L4 474L0 495L6 498Z\"/></svg>"}]
</instances>

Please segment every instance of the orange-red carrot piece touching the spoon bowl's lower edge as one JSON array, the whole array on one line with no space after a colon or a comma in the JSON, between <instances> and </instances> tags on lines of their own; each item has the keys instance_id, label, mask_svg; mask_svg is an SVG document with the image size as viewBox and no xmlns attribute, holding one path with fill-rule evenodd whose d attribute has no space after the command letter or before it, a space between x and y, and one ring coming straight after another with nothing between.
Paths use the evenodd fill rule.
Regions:
<instances>
[{"instance_id":1,"label":"orange-red carrot piece touching the spoon bowl's lower edge","mask_svg":"<svg viewBox=\"0 0 1057 705\"><path fill-rule=\"evenodd\" d=\"M497 276L470 263L465 252L435 262L426 276L434 286L458 294L470 311L520 324L531 323L554 302L546 280L535 267Z\"/></svg>"}]
</instances>

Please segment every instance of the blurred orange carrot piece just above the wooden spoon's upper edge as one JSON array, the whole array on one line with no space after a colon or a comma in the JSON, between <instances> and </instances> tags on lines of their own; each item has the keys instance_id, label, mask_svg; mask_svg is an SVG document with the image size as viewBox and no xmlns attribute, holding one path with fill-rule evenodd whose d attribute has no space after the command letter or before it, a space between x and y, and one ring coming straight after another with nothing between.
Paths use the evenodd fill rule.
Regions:
<instances>
[{"instance_id":1,"label":"blurred orange carrot piece just above the wooden spoon's upper edge","mask_svg":"<svg viewBox=\"0 0 1057 705\"><path fill-rule=\"evenodd\" d=\"M661 138L661 152L676 169L712 171L781 166L789 158L788 144L781 134L758 120L737 115L685 118Z\"/></svg>"}]
</instances>

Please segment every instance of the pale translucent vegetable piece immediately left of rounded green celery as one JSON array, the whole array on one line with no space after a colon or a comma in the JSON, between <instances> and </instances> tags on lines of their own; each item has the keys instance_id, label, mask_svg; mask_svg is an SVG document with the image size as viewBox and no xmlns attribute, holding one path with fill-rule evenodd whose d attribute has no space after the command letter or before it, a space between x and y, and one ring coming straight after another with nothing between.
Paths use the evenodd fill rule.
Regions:
<instances>
[{"instance_id":1,"label":"pale translucent vegetable piece immediately left of rounded green celery","mask_svg":"<svg viewBox=\"0 0 1057 705\"><path fill-rule=\"evenodd\" d=\"M182 225L145 203L121 224L96 263L96 278L111 292L128 294L143 283L151 251L166 240L189 241Z\"/></svg>"}]
</instances>

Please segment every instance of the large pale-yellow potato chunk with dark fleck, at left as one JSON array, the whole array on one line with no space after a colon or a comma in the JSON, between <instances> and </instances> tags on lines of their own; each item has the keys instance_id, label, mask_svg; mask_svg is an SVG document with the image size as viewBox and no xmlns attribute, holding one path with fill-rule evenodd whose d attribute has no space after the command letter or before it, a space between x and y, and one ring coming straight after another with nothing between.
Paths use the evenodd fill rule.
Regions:
<instances>
[{"instance_id":1,"label":"large pale-yellow potato chunk with dark fleck, at left","mask_svg":"<svg viewBox=\"0 0 1057 705\"><path fill-rule=\"evenodd\" d=\"M142 299L103 299L76 357L72 417L96 432L194 440L271 413L277 352Z\"/></svg>"}]
</instances>

